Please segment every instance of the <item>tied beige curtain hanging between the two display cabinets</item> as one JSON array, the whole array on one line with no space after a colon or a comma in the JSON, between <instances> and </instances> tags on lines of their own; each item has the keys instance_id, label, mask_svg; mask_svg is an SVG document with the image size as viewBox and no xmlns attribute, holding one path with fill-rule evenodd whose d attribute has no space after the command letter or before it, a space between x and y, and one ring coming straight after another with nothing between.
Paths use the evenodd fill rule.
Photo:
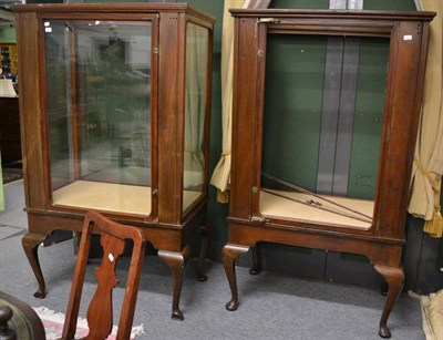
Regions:
<instances>
[{"instance_id":1,"label":"tied beige curtain hanging between the two display cabinets","mask_svg":"<svg viewBox=\"0 0 443 340\"><path fill-rule=\"evenodd\" d=\"M222 37L222 128L223 153L220 161L214 169L210 184L217 187L217 200L228 202L228 189L230 182L230 138L233 122L233 59L234 59L234 19L228 9L245 8L260 9L267 8L271 0L225 0L223 14L223 37Z\"/></svg>"}]
</instances>

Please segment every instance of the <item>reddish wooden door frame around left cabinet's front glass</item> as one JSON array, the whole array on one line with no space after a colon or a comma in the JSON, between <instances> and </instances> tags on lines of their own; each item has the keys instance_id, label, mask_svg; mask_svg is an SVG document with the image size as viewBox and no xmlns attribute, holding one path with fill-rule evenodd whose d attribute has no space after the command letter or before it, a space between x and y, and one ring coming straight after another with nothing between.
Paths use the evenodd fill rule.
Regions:
<instances>
[{"instance_id":1,"label":"reddish wooden door frame around left cabinet's front glass","mask_svg":"<svg viewBox=\"0 0 443 340\"><path fill-rule=\"evenodd\" d=\"M51 185L51 162L49 154L49 115L48 115L48 89L47 89L47 65L45 65L45 49L44 49L44 22L45 21L64 21L64 20L78 20L78 21L95 21L95 20L113 20L120 22L127 22L132 24L133 22L150 22L151 23L151 214L150 215L138 215L138 214L127 214L120 212L106 212L110 216L115 217L125 217L130 219L140 220L142 219L144 223L155 223L158 218L158 13L65 13L65 12L49 12L49 13L38 13L38 49L40 56L39 60L39 87L40 87L40 112L41 112L41 136L42 136L42 162L43 162L43 178L44 178L44 195L45 199L45 209L53 212L69 212L69 213L84 213L86 208L82 207L66 207L66 206L55 206L52 199L52 185ZM141 27L141 25L140 25ZM73 34L72 34L73 35ZM70 39L71 49L75 51L75 40L74 38ZM76 107L76 62L75 59L70 64L71 68L71 89L74 89L72 95L73 109L72 111L78 113ZM74 163L75 158L78 158L79 154L79 142L80 138L78 136L78 124L76 121L78 114L73 114L73 150L74 150ZM74 177L79 175L79 168L74 165Z\"/></svg>"}]
</instances>

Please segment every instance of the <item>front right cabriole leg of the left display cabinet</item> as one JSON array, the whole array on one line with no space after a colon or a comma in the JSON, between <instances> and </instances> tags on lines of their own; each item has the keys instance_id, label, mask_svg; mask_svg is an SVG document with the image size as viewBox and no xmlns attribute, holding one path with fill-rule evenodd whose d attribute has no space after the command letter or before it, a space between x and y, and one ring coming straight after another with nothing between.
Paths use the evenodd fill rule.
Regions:
<instances>
[{"instance_id":1,"label":"front right cabriole leg of the left display cabinet","mask_svg":"<svg viewBox=\"0 0 443 340\"><path fill-rule=\"evenodd\" d=\"M183 313L179 309L179 298L182 295L183 272L187 259L189 258L190 247L186 246L182 253L158 250L158 256L169 266L173 272L174 292L173 292L173 313L174 320L183 320Z\"/></svg>"}]
</instances>

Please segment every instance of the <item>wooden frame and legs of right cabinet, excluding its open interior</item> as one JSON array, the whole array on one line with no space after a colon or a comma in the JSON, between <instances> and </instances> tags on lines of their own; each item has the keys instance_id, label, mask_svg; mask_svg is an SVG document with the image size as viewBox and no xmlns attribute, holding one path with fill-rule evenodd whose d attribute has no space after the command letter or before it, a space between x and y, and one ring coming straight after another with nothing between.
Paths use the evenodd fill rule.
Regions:
<instances>
[{"instance_id":1,"label":"wooden frame and legs of right cabinet, excluding its open interior","mask_svg":"<svg viewBox=\"0 0 443 340\"><path fill-rule=\"evenodd\" d=\"M259 241L364 255L389 284L379 334L389 338L388 317L403 286L401 254L414 145L420 117L429 22L435 13L231 10L235 18L233 169L229 239L223 261L238 307L235 259ZM261 216L260 172L267 34L382 37L390 39L388 83L374 214L368 229L312 220ZM254 141L254 143L251 143Z\"/></svg>"}]
</instances>

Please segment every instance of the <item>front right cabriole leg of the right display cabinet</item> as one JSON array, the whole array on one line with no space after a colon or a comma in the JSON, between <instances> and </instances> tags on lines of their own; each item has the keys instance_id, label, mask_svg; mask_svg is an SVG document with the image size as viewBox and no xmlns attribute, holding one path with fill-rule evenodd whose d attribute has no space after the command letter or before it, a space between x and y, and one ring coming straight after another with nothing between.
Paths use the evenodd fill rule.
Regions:
<instances>
[{"instance_id":1,"label":"front right cabriole leg of the right display cabinet","mask_svg":"<svg viewBox=\"0 0 443 340\"><path fill-rule=\"evenodd\" d=\"M374 268L380 272L388 282L388 295L384 302L383 312L380 319L379 336L384 339L391 338L391 331L388 328L388 318L394 307L395 300L399 297L404 282L404 271L402 268L374 265Z\"/></svg>"}]
</instances>

